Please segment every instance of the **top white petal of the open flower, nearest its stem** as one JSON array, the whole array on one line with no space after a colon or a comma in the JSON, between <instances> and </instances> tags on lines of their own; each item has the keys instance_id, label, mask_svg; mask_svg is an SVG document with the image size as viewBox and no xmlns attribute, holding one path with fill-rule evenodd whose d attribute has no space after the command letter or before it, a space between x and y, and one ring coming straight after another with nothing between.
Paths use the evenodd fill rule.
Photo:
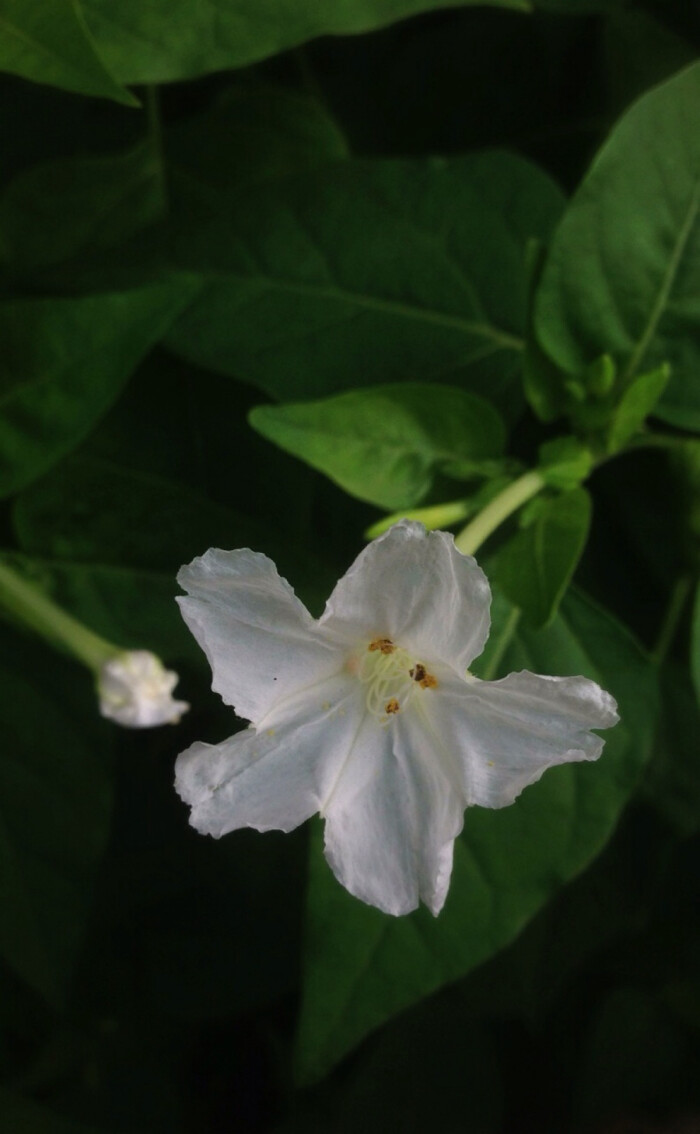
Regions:
<instances>
[{"instance_id":1,"label":"top white petal of the open flower, nearest its stem","mask_svg":"<svg viewBox=\"0 0 700 1134\"><path fill-rule=\"evenodd\" d=\"M488 637L490 602L486 575L448 532L402 521L357 557L320 625L347 642L389 637L463 675Z\"/></svg>"}]
</instances>

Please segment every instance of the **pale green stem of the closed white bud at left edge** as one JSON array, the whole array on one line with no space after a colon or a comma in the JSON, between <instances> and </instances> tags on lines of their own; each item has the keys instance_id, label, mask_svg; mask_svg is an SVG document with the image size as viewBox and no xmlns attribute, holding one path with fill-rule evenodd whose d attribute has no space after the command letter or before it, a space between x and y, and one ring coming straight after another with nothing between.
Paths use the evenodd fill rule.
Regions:
<instances>
[{"instance_id":1,"label":"pale green stem of the closed white bud at left edge","mask_svg":"<svg viewBox=\"0 0 700 1134\"><path fill-rule=\"evenodd\" d=\"M119 653L118 646L93 634L3 562L0 562L0 603L14 618L52 644L65 646L95 672Z\"/></svg>"}]
</instances>

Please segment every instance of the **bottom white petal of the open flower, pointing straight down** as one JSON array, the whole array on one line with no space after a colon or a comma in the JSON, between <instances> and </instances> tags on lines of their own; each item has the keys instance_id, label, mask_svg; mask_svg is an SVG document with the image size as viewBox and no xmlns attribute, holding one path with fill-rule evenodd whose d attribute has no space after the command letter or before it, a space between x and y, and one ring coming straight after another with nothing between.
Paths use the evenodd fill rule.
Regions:
<instances>
[{"instance_id":1,"label":"bottom white petal of the open flower, pointing straight down","mask_svg":"<svg viewBox=\"0 0 700 1134\"><path fill-rule=\"evenodd\" d=\"M412 721L386 728L368 716L327 804L326 857L338 881L385 913L438 914L462 830L464 799L431 747L416 747Z\"/></svg>"}]
</instances>

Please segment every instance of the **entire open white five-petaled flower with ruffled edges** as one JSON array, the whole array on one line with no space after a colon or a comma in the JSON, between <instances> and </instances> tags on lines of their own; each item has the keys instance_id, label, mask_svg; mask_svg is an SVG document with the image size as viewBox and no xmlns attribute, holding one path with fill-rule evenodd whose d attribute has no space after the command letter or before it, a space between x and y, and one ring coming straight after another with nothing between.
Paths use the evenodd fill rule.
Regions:
<instances>
[{"instance_id":1,"label":"entire open white five-petaled flower with ruffled edges","mask_svg":"<svg viewBox=\"0 0 700 1134\"><path fill-rule=\"evenodd\" d=\"M252 725L177 760L191 822L289 831L320 812L351 894L439 913L465 807L503 807L553 764L596 760L615 702L584 677L469 674L490 591L452 535L406 521L362 551L314 620L275 564L212 549L178 575L212 687Z\"/></svg>"}]
</instances>

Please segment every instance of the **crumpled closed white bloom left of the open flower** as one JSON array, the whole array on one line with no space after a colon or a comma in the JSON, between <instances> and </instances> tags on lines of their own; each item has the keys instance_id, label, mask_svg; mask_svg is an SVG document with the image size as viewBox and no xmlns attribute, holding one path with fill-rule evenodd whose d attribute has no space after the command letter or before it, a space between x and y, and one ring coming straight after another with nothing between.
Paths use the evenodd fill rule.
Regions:
<instances>
[{"instance_id":1,"label":"crumpled closed white bloom left of the open flower","mask_svg":"<svg viewBox=\"0 0 700 1134\"><path fill-rule=\"evenodd\" d=\"M170 694L178 676L147 650L125 650L100 667L100 712L126 728L176 725L189 705Z\"/></svg>"}]
</instances>

